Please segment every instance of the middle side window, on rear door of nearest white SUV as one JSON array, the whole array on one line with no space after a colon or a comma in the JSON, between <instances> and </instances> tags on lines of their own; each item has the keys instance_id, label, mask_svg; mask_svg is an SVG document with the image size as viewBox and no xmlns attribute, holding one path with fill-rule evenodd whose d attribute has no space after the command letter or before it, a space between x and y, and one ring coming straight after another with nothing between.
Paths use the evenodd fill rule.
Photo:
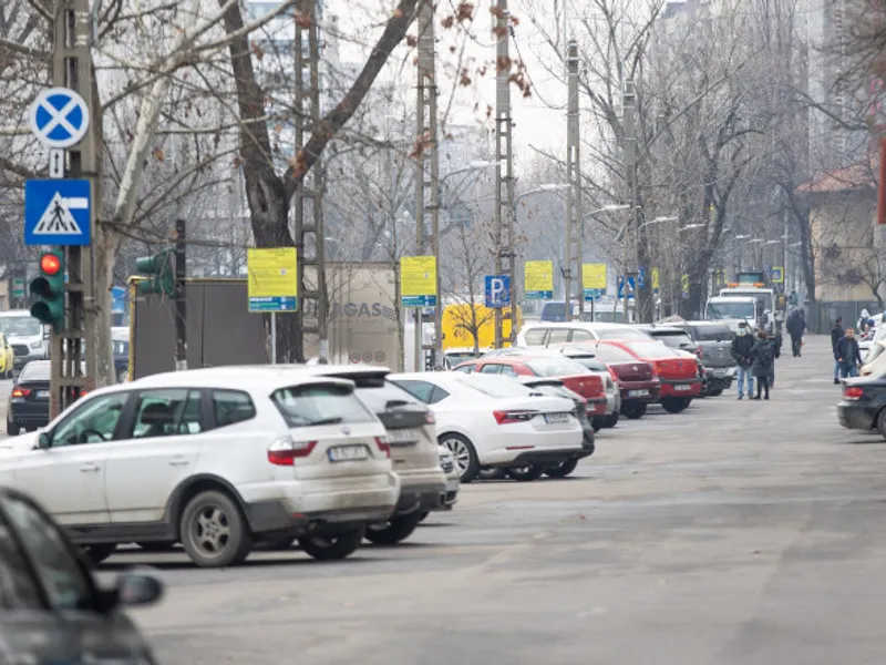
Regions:
<instances>
[{"instance_id":1,"label":"middle side window, on rear door of nearest white SUV","mask_svg":"<svg viewBox=\"0 0 886 665\"><path fill-rule=\"evenodd\" d=\"M132 434L126 438L151 439L200 432L199 390L142 390L137 399Z\"/></svg>"}]
</instances>

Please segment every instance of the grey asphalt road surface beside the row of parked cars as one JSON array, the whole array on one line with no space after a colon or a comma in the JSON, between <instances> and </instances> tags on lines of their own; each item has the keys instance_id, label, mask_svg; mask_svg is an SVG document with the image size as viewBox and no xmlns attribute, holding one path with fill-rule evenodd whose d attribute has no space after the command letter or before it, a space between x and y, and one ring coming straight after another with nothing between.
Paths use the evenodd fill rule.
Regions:
<instances>
[{"instance_id":1,"label":"grey asphalt road surface beside the row of parked cars","mask_svg":"<svg viewBox=\"0 0 886 665\"><path fill-rule=\"evenodd\" d=\"M163 663L853 665L886 653L886 444L834 413L828 342L734 393L598 439L576 477L463 488L405 544L223 571L124 553Z\"/></svg>"}]
</instances>

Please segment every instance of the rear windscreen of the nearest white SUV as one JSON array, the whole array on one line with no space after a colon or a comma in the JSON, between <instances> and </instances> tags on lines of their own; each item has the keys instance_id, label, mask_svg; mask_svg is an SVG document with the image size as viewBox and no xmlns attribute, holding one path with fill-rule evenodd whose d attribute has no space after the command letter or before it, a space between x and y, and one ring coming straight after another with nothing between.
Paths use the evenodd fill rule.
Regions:
<instances>
[{"instance_id":1,"label":"rear windscreen of the nearest white SUV","mask_svg":"<svg viewBox=\"0 0 886 665\"><path fill-rule=\"evenodd\" d=\"M350 386L328 383L281 388L271 395L271 401L292 428L375 420Z\"/></svg>"}]
</instances>

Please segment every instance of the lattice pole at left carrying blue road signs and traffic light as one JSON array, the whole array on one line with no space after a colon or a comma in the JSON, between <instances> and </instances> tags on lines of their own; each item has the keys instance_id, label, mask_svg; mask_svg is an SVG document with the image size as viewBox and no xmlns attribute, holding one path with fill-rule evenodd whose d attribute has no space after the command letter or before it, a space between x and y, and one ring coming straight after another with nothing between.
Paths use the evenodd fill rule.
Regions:
<instances>
[{"instance_id":1,"label":"lattice pole at left carrying blue road signs and traffic light","mask_svg":"<svg viewBox=\"0 0 886 665\"><path fill-rule=\"evenodd\" d=\"M83 140L68 151L66 176L90 181L92 205L90 227L95 228L95 211L100 207L95 123L92 96L93 40L89 0L56 0L53 17L52 80L83 98L93 119ZM91 237L95 237L92 233ZM95 387L97 355L95 348L95 298L93 295L92 246L64 248L68 283L65 321L61 332L50 339L50 418L66 409L81 395ZM83 366L85 365L85 372ZM85 374L85 376L84 376Z\"/></svg>"}]
</instances>

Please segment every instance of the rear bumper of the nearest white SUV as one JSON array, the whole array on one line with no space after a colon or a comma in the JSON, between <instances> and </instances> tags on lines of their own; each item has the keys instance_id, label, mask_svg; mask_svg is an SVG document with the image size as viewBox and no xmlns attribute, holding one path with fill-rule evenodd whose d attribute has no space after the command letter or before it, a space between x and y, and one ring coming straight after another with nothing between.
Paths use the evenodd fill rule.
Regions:
<instances>
[{"instance_id":1,"label":"rear bumper of the nearest white SUV","mask_svg":"<svg viewBox=\"0 0 886 665\"><path fill-rule=\"evenodd\" d=\"M254 533L299 535L383 522L400 499L400 478L375 473L323 480L275 481L241 488Z\"/></svg>"}]
</instances>

